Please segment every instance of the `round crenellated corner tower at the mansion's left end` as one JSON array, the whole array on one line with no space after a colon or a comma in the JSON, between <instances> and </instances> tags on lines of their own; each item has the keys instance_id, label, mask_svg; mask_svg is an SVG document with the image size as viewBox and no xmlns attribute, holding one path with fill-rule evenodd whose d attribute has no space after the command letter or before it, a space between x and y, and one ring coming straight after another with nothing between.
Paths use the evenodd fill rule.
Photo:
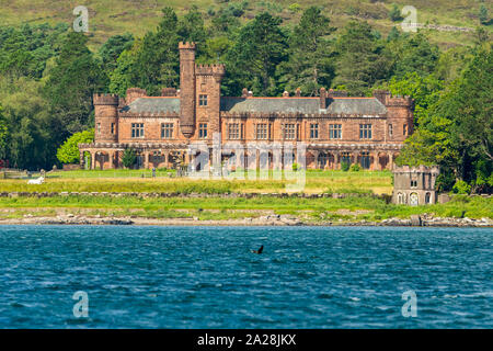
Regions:
<instances>
[{"instance_id":1,"label":"round crenellated corner tower at the mansion's left end","mask_svg":"<svg viewBox=\"0 0 493 351\"><path fill-rule=\"evenodd\" d=\"M118 95L96 93L94 104L94 141L118 141Z\"/></svg>"}]
</instances>

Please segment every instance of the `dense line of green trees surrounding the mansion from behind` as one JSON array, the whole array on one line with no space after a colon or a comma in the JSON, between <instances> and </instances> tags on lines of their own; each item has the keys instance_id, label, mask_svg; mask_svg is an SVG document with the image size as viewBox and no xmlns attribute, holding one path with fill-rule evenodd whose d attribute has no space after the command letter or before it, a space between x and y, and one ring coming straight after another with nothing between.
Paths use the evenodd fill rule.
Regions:
<instances>
[{"instance_id":1,"label":"dense line of green trees surrounding the mansion from behind","mask_svg":"<svg viewBox=\"0 0 493 351\"><path fill-rule=\"evenodd\" d=\"M144 37L112 36L96 53L68 25L0 27L0 159L28 169L57 163L57 148L93 127L92 93L177 88L177 43L193 41L198 63L226 65L225 95L239 95L243 88L256 95L296 88L316 95L321 87L351 95L369 95L374 88L412 95L416 133L398 161L442 166L445 190L463 180L472 190L491 191L493 69L486 31L477 31L474 47L440 50L421 32L393 27L382 36L364 21L335 29L316 7L294 25L267 12L241 22L243 10L227 5L204 14L194 7L177 16L165 8L156 30Z\"/></svg>"}]
</instances>

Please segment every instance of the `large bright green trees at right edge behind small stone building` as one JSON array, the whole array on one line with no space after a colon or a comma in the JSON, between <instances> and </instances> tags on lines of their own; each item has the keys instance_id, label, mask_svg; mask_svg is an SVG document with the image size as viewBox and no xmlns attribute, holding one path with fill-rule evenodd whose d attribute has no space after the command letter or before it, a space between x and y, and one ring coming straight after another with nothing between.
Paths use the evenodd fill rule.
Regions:
<instances>
[{"instance_id":1,"label":"large bright green trees at right edge behind small stone building","mask_svg":"<svg viewBox=\"0 0 493 351\"><path fill-rule=\"evenodd\" d=\"M463 180L474 191L491 189L493 167L493 58L477 46L459 78L438 99L427 101L417 131L404 143L397 162L439 165L444 179ZM424 95L426 92L423 91ZM450 182L447 181L447 188Z\"/></svg>"}]
</instances>

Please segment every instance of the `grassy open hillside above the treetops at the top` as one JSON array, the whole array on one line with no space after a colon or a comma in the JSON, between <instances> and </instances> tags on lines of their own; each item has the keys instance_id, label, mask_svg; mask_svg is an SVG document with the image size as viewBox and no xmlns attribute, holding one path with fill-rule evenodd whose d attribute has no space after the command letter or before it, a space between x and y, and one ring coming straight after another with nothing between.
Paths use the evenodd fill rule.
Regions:
<instances>
[{"instance_id":1,"label":"grassy open hillside above the treetops at the top","mask_svg":"<svg viewBox=\"0 0 493 351\"><path fill-rule=\"evenodd\" d=\"M393 25L389 18L389 10L393 3L399 8L412 4L417 10L417 22L423 24L457 26L474 29L479 25L479 7L484 4L489 13L493 12L491 2L482 0L296 0L277 1L233 1L233 0L0 0L0 23L4 25L18 25L30 23L72 23L74 15L72 10L77 5L85 5L90 12L89 31L90 45L98 47L104 41L115 34L130 32L135 35L144 35L153 29L163 7L171 5L179 14L197 5L208 20L208 13L214 13L220 8L243 4L243 20L253 18L261 11L270 11L284 19L285 24L296 22L301 10L309 5L323 7L331 18L333 25L342 26L351 19L367 20L382 34L387 34ZM426 30L432 42L442 47L467 45L473 41L473 32L450 32ZM491 25L490 25L491 31Z\"/></svg>"}]
</instances>

